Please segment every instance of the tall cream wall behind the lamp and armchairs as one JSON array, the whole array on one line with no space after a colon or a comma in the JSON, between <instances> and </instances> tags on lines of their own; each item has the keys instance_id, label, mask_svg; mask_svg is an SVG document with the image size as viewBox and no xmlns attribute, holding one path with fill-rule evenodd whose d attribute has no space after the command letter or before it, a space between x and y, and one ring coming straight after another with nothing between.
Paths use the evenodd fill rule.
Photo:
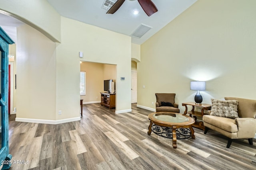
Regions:
<instances>
[{"instance_id":1,"label":"tall cream wall behind the lamp and armchairs","mask_svg":"<svg viewBox=\"0 0 256 170\"><path fill-rule=\"evenodd\" d=\"M256 1L198 0L141 45L138 105L155 108L155 93L194 101L190 81L206 81L203 103L256 99ZM145 85L145 88L142 88Z\"/></svg>"}]
</instances>

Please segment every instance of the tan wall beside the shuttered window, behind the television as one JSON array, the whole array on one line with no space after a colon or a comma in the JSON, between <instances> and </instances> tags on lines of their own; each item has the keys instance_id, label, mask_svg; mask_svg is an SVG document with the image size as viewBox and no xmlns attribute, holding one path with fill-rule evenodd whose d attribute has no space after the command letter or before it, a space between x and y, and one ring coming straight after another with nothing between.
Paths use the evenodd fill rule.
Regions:
<instances>
[{"instance_id":1,"label":"tan wall beside the shuttered window, behind the television","mask_svg":"<svg viewBox=\"0 0 256 170\"><path fill-rule=\"evenodd\" d=\"M86 72L86 95L81 95L83 103L100 102L100 92L103 91L104 64L82 62L81 71Z\"/></svg>"}]
</instances>

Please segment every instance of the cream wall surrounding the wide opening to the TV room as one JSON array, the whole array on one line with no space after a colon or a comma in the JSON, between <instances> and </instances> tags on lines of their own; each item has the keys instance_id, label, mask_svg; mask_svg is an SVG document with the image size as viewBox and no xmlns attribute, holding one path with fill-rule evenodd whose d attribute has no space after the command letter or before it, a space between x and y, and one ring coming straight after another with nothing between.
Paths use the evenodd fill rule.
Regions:
<instances>
[{"instance_id":1,"label":"cream wall surrounding the wide opening to the TV room","mask_svg":"<svg viewBox=\"0 0 256 170\"><path fill-rule=\"evenodd\" d=\"M131 37L61 17L62 43L58 45L56 119L78 117L80 113L80 60L116 64L116 111L131 109ZM84 57L78 56L79 51ZM57 111L62 110L62 115Z\"/></svg>"}]
</instances>

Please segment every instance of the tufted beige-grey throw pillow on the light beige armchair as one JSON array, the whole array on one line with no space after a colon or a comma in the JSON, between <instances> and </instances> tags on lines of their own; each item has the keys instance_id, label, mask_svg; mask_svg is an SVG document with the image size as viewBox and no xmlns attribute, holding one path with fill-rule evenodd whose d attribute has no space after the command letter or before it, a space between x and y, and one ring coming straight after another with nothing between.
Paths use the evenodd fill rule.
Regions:
<instances>
[{"instance_id":1,"label":"tufted beige-grey throw pillow on the light beige armchair","mask_svg":"<svg viewBox=\"0 0 256 170\"><path fill-rule=\"evenodd\" d=\"M238 117L237 113L237 100L218 100L211 99L212 101L212 111L210 115L212 116L220 116L220 117L228 117L235 119Z\"/></svg>"}]
</instances>

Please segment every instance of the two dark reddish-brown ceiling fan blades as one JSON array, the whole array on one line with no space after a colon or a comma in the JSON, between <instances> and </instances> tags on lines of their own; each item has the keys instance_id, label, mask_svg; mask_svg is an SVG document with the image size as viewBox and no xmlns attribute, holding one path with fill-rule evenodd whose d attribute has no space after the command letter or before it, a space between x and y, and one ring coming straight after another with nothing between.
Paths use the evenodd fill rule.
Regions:
<instances>
[{"instance_id":1,"label":"two dark reddish-brown ceiling fan blades","mask_svg":"<svg viewBox=\"0 0 256 170\"><path fill-rule=\"evenodd\" d=\"M108 10L107 14L114 14L120 8L120 6L122 6L124 1L125 0L117 0L116 3ZM138 2L148 16L158 12L158 9L151 0L138 0Z\"/></svg>"}]
</instances>

